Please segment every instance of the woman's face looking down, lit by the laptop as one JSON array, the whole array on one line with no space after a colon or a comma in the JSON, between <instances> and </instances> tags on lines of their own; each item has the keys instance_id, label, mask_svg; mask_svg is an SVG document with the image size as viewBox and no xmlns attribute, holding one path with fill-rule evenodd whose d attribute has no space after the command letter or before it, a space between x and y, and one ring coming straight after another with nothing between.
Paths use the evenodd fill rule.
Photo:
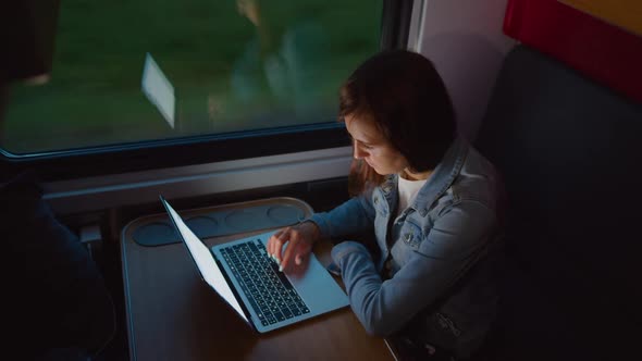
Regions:
<instances>
[{"instance_id":1,"label":"woman's face looking down, lit by the laptop","mask_svg":"<svg viewBox=\"0 0 642 361\"><path fill-rule=\"evenodd\" d=\"M355 159L362 159L380 175L402 173L408 161L379 130L373 121L366 117L345 116L345 124L353 138Z\"/></svg>"}]
</instances>

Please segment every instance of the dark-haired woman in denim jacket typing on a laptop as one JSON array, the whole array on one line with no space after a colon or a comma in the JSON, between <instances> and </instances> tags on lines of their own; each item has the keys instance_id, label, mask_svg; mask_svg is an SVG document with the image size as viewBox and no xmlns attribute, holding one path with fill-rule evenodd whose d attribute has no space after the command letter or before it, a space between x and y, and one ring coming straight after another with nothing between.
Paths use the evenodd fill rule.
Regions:
<instances>
[{"instance_id":1,"label":"dark-haired woman in denim jacket typing on a laptop","mask_svg":"<svg viewBox=\"0 0 642 361\"><path fill-rule=\"evenodd\" d=\"M363 240L332 249L331 267L366 329L403 335L435 358L471 357L497 301L487 257L498 231L493 165L456 135L441 77L413 52L361 64L341 89L339 115L354 141L359 195L275 233L268 252L287 272L318 239L374 231L376 252Z\"/></svg>"}]
</instances>

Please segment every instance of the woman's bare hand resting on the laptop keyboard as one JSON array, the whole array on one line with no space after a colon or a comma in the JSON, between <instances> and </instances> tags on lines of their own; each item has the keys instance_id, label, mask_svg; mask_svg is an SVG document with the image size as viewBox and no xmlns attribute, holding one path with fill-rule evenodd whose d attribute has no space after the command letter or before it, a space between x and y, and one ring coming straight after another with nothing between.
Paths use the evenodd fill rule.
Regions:
<instances>
[{"instance_id":1,"label":"woman's bare hand resting on the laptop keyboard","mask_svg":"<svg viewBox=\"0 0 642 361\"><path fill-rule=\"evenodd\" d=\"M312 251L312 245L319 238L319 226L314 222L299 223L293 227L277 231L268 240L268 253L279 263L279 271L287 270L294 263L299 265ZM283 245L286 245L283 248Z\"/></svg>"}]
</instances>

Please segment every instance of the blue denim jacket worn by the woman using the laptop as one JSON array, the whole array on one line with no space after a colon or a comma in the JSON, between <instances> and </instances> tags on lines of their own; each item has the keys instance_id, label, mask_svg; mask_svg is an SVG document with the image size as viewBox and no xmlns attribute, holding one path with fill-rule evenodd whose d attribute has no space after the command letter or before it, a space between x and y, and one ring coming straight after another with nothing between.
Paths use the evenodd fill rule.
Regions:
<instances>
[{"instance_id":1,"label":"blue denim jacket worn by the woman using the laptop","mask_svg":"<svg viewBox=\"0 0 642 361\"><path fill-rule=\"evenodd\" d=\"M497 302L487 257L498 229L495 170L458 138L412 203L393 219L397 177L310 221L323 236L343 240L332 249L333 266L370 334L390 336L411 327L420 341L469 357ZM372 227L379 257L342 238Z\"/></svg>"}]
</instances>

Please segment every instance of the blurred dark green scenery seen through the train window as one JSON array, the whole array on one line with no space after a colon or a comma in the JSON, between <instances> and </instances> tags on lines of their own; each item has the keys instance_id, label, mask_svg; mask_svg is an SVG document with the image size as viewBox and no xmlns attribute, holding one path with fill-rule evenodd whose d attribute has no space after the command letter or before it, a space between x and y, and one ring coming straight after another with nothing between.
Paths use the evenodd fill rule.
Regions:
<instances>
[{"instance_id":1,"label":"blurred dark green scenery seen through the train window","mask_svg":"<svg viewBox=\"0 0 642 361\"><path fill-rule=\"evenodd\" d=\"M335 122L341 83L379 50L381 11L372 0L64 0L49 79L10 88L0 147Z\"/></svg>"}]
</instances>

